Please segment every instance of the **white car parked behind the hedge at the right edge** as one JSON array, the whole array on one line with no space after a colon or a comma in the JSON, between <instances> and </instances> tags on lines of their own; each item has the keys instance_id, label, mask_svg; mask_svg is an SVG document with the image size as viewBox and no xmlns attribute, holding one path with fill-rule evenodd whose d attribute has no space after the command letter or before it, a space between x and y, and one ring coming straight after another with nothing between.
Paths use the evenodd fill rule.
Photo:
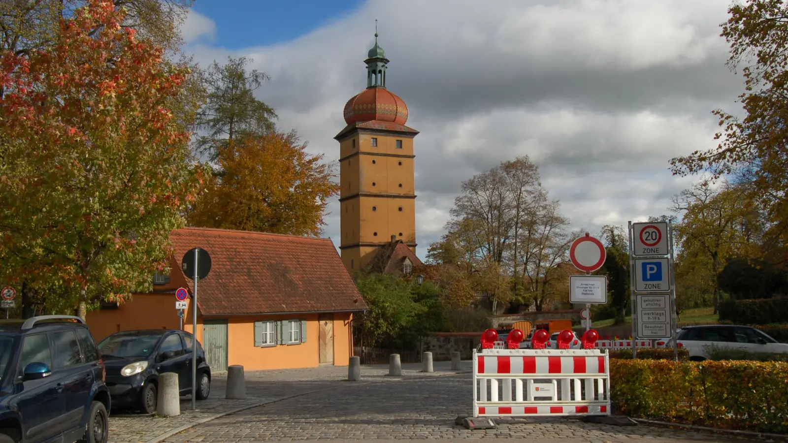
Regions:
<instances>
[{"instance_id":1,"label":"white car parked behind the hedge at the right edge","mask_svg":"<svg viewBox=\"0 0 788 443\"><path fill-rule=\"evenodd\" d=\"M751 326L708 325L686 326L677 337L678 347L689 351L689 359L702 362L711 358L714 348L738 349L745 352L788 352L788 344Z\"/></svg>"}]
</instances>

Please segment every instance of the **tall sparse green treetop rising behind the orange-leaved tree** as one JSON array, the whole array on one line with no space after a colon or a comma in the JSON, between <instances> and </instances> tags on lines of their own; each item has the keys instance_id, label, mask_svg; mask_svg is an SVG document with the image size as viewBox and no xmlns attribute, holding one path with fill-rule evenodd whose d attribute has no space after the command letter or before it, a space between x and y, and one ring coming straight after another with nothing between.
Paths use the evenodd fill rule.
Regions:
<instances>
[{"instance_id":1,"label":"tall sparse green treetop rising behind the orange-leaved tree","mask_svg":"<svg viewBox=\"0 0 788 443\"><path fill-rule=\"evenodd\" d=\"M252 69L247 73L251 58L227 58L225 65L216 61L204 74L206 102L197 116L197 127L205 132L195 140L197 150L215 160L225 143L238 136L262 135L274 130L277 114L255 91L266 73Z\"/></svg>"}]
</instances>

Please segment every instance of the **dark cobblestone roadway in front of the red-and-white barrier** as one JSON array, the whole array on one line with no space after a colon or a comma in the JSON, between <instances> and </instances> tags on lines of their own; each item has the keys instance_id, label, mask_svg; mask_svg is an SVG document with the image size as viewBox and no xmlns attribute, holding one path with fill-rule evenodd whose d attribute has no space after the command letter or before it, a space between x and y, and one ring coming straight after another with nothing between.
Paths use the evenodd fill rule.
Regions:
<instances>
[{"instance_id":1,"label":"dark cobblestone roadway in front of the red-and-white barrier","mask_svg":"<svg viewBox=\"0 0 788 443\"><path fill-rule=\"evenodd\" d=\"M470 374L346 384L342 389L283 400L184 430L167 443L325 440L536 439L559 442L748 441L667 427L606 426L567 419L497 420L495 430L455 426L470 412ZM475 440L479 441L479 440Z\"/></svg>"}]
</instances>

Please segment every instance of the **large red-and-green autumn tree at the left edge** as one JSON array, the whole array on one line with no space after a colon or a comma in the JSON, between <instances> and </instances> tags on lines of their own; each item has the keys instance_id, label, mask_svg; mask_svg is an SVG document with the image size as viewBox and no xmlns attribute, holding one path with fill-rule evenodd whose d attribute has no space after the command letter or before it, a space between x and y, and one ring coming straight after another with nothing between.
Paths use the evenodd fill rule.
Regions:
<instances>
[{"instance_id":1,"label":"large red-and-green autumn tree at the left edge","mask_svg":"<svg viewBox=\"0 0 788 443\"><path fill-rule=\"evenodd\" d=\"M91 0L51 47L0 58L3 277L56 289L47 306L82 317L151 289L199 192L188 132L166 107L188 71L124 20Z\"/></svg>"}]
</instances>

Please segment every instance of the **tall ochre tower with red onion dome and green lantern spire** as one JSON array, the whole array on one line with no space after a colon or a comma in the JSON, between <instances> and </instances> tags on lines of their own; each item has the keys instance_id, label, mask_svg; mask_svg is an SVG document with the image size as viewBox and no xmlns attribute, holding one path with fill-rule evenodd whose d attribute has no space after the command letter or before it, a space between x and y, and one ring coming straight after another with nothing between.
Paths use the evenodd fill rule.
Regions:
<instances>
[{"instance_id":1,"label":"tall ochre tower with red onion dome and green lantern spire","mask_svg":"<svg viewBox=\"0 0 788 443\"><path fill-rule=\"evenodd\" d=\"M348 100L348 125L334 137L340 142L342 262L352 273L381 255L389 262L394 250L403 249L398 256L407 273L409 263L418 261L413 151L418 131L405 126L403 99L386 89L388 59L377 32L367 55L366 89Z\"/></svg>"}]
</instances>

